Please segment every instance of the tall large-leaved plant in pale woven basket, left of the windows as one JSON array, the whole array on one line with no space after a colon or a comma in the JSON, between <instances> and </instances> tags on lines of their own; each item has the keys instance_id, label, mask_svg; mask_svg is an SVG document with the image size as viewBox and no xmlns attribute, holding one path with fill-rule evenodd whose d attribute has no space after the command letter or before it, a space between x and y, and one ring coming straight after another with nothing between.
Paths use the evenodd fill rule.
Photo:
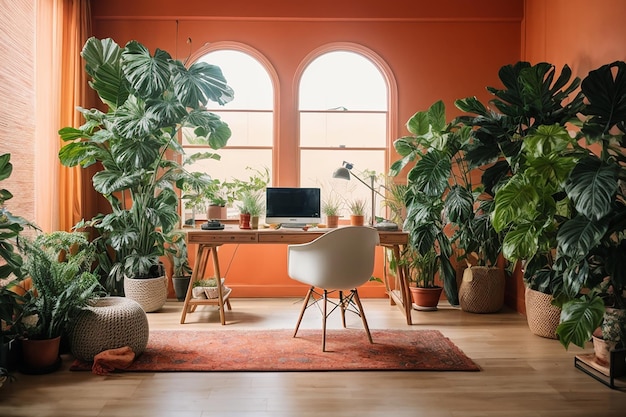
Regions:
<instances>
[{"instance_id":1,"label":"tall large-leaved plant in pale woven basket, left of the windows","mask_svg":"<svg viewBox=\"0 0 626 417\"><path fill-rule=\"evenodd\" d=\"M196 179L182 165L188 159L179 135L223 147L230 129L205 104L225 104L233 91L218 67L197 62L187 68L137 41L122 48L90 38L81 56L106 111L79 108L86 122L60 130L66 144L59 157L66 166L102 167L93 185L111 212L85 223L99 234L99 271L111 293L156 311L167 295L160 258L167 234L180 223L176 189Z\"/></svg>"}]
</instances>

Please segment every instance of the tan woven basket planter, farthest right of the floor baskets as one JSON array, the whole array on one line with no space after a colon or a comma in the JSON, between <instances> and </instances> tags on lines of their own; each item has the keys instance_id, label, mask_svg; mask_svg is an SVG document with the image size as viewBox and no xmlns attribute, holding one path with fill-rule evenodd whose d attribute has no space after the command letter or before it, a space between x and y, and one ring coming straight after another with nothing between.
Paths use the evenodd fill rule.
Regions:
<instances>
[{"instance_id":1,"label":"tan woven basket planter, farthest right of the floor baskets","mask_svg":"<svg viewBox=\"0 0 626 417\"><path fill-rule=\"evenodd\" d=\"M561 309L552 305L552 296L526 288L526 320L533 334L557 339L556 328L561 319Z\"/></svg>"}]
</instances>

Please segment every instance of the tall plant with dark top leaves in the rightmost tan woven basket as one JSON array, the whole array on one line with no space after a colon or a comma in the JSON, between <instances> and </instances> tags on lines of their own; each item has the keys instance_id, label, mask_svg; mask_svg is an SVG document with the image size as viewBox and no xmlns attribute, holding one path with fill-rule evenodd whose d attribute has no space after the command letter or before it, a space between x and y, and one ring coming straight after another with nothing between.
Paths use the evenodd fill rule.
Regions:
<instances>
[{"instance_id":1,"label":"tall plant with dark top leaves in the rightmost tan woven basket","mask_svg":"<svg viewBox=\"0 0 626 417\"><path fill-rule=\"evenodd\" d=\"M567 66L557 74L551 64L527 62L503 66L499 77L504 89L488 87L495 110L475 97L455 103L470 113L461 121L473 126L466 159L483 170L481 183L495 196L493 225L504 234L504 257L524 264L527 301L544 301L527 302L529 327L554 338L558 309L551 300L559 284L552 266L556 233L569 211L562 182L576 145L565 127L583 106L582 96L573 95L580 80Z\"/></svg>"}]
</instances>

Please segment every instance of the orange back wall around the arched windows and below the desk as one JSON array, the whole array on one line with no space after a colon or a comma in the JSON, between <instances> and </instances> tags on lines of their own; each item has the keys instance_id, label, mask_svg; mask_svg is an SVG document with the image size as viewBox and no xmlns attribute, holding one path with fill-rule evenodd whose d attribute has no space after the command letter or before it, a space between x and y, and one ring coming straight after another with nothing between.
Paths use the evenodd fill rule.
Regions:
<instances>
[{"instance_id":1,"label":"orange back wall around the arched windows and below the desk","mask_svg":"<svg viewBox=\"0 0 626 417\"><path fill-rule=\"evenodd\" d=\"M311 51L352 42L380 55L398 85L397 123L390 129L397 137L406 133L404 123L413 113L436 100L446 102L452 118L455 99L488 99L485 87L499 85L498 69L520 59L523 8L523 0L108 0L93 2L92 14L95 36L121 45L136 39L179 59L217 41L241 42L264 54L278 73L277 129L285 144L280 158L294 161L276 179L287 184L298 172L295 73ZM234 249L224 247L220 259L230 263L230 269L222 268L237 296L303 294L287 277L284 247L242 245L233 258ZM382 276L381 259L376 275ZM383 294L382 285L374 283L363 291L364 296Z\"/></svg>"}]
</instances>

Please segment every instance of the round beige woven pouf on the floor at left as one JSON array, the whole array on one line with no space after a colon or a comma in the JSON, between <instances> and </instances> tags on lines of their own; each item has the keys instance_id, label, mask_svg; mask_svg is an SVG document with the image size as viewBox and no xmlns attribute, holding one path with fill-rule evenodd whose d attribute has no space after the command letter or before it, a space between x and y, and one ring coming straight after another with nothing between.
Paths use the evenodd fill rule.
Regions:
<instances>
[{"instance_id":1,"label":"round beige woven pouf on the floor at left","mask_svg":"<svg viewBox=\"0 0 626 417\"><path fill-rule=\"evenodd\" d=\"M124 346L139 356L146 350L148 334L148 318L136 301L104 297L78 316L70 335L70 349L75 358L84 361Z\"/></svg>"}]
</instances>

